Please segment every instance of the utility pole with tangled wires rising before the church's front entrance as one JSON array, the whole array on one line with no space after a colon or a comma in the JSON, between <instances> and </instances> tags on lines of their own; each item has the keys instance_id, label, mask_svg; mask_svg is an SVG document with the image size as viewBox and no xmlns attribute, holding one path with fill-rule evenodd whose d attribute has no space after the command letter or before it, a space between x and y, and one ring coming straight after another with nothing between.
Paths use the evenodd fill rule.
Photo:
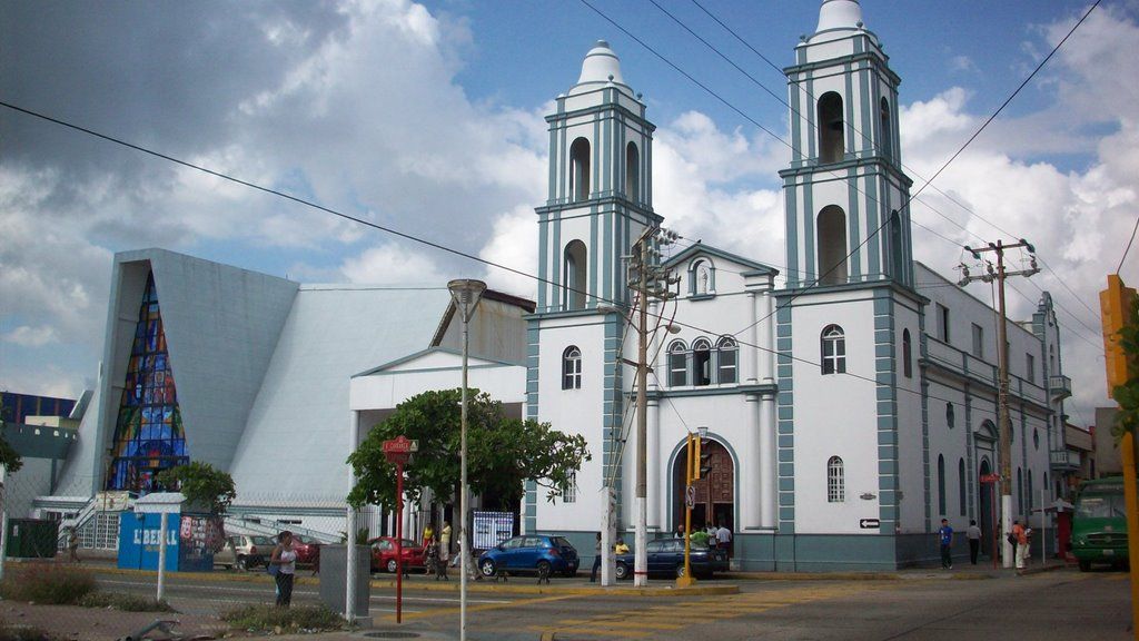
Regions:
<instances>
[{"instance_id":1,"label":"utility pole with tangled wires rising before the church's front entrance","mask_svg":"<svg viewBox=\"0 0 1139 641\"><path fill-rule=\"evenodd\" d=\"M659 237L658 237L659 236ZM655 245L669 244L679 236L661 227L649 227L633 244L629 286L640 297L637 310L637 530L633 557L633 585L648 584L648 299L669 300L669 287L679 282L659 265ZM620 356L618 356L620 358Z\"/></svg>"}]
</instances>

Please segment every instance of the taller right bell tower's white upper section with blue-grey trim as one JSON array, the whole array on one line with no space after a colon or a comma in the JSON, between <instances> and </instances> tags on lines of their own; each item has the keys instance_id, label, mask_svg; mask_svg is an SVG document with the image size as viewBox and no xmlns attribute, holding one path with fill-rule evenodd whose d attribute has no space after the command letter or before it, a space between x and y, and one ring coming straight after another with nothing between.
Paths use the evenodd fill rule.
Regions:
<instances>
[{"instance_id":1,"label":"taller right bell tower's white upper section with blue-grey trim","mask_svg":"<svg viewBox=\"0 0 1139 641\"><path fill-rule=\"evenodd\" d=\"M779 172L789 287L892 281L913 289L898 86L858 0L823 0L785 68L792 162Z\"/></svg>"}]
</instances>

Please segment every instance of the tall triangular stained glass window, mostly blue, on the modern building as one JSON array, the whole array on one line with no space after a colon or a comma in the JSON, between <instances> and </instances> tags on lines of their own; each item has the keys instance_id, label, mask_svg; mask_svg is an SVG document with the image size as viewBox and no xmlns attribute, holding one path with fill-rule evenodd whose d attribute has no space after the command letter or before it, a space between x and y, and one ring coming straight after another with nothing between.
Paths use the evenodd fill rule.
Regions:
<instances>
[{"instance_id":1,"label":"tall triangular stained glass window, mostly blue, on the modern building","mask_svg":"<svg viewBox=\"0 0 1139 641\"><path fill-rule=\"evenodd\" d=\"M150 274L139 307L126 381L118 404L107 489L139 494L161 489L154 477L162 470L188 462L174 371L166 354L166 333L162 327L154 274Z\"/></svg>"}]
</instances>

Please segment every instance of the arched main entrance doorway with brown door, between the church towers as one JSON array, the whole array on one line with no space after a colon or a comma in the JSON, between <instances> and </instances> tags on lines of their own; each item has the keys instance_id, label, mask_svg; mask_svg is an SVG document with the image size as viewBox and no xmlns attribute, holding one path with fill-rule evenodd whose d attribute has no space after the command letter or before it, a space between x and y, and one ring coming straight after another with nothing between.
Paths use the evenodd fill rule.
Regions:
<instances>
[{"instance_id":1,"label":"arched main entrance doorway with brown door, between the church towers","mask_svg":"<svg viewBox=\"0 0 1139 641\"><path fill-rule=\"evenodd\" d=\"M693 506L693 528L708 524L722 524L736 532L736 464L731 453L716 440L707 439L704 453L710 454L711 471L697 480L696 505ZM685 448L680 449L672 464L672 522L685 522L685 472L687 471ZM675 529L675 527L673 527Z\"/></svg>"}]
</instances>

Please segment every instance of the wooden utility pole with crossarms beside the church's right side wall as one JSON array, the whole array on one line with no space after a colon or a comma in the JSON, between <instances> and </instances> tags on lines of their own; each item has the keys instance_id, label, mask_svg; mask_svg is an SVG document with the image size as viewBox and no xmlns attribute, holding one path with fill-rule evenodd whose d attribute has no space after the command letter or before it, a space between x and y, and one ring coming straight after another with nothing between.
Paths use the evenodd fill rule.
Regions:
<instances>
[{"instance_id":1,"label":"wooden utility pole with crossarms beside the church's right side wall","mask_svg":"<svg viewBox=\"0 0 1139 641\"><path fill-rule=\"evenodd\" d=\"M1017 248L1029 250L1032 266L1019 271L1007 271L1005 269L1005 251ZM1036 267L1036 257L1033 255L1036 253L1036 249L1024 238L1013 244L997 241L989 243L988 248L978 249L966 245L965 251L972 253L976 260L981 260L981 254L985 252L997 254L997 268L993 269L992 263L989 262L989 269L980 276L969 276L969 268L962 263L961 279L957 284L964 287L974 281L984 281L985 283L997 281L997 311L1000 315L1000 320L997 323L997 368L1000 379L997 388L997 423L1000 425L1000 518L1001 527L1005 530L1010 530L1013 527L1013 424L1008 415L1008 316L1005 313L1005 279L1009 276L1029 277L1040 271L1040 268ZM1000 544L1002 566L1011 568L1013 545L1009 544L1008 537L1003 536L1003 533L1000 536Z\"/></svg>"}]
</instances>

